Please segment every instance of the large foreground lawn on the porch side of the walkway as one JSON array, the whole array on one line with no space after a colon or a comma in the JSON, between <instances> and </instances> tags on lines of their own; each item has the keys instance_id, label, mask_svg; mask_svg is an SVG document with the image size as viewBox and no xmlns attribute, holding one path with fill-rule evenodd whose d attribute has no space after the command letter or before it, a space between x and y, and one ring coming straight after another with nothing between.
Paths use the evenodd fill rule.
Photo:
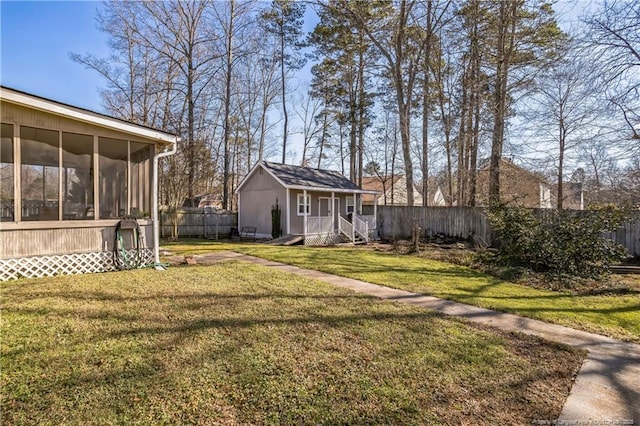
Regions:
<instances>
[{"instance_id":1,"label":"large foreground lawn on the porch side of the walkway","mask_svg":"<svg viewBox=\"0 0 640 426\"><path fill-rule=\"evenodd\" d=\"M531 424L584 355L236 262L0 296L2 424Z\"/></svg>"}]
</instances>

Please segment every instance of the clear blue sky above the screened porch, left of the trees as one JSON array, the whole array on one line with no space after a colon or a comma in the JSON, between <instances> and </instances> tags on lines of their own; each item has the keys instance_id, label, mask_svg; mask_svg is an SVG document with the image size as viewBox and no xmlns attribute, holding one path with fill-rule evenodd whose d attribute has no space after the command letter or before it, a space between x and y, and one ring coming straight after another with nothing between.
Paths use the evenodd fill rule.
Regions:
<instances>
[{"instance_id":1,"label":"clear blue sky above the screened porch, left of the trees","mask_svg":"<svg viewBox=\"0 0 640 426\"><path fill-rule=\"evenodd\" d=\"M3 86L101 111L104 80L72 61L69 52L107 56L96 29L94 1L0 2Z\"/></svg>"}]
</instances>

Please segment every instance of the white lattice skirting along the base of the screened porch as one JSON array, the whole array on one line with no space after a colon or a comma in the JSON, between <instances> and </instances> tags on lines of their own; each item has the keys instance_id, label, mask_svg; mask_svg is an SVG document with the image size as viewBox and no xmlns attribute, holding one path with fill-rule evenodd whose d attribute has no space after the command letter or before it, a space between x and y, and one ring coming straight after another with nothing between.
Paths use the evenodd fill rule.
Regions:
<instances>
[{"instance_id":1,"label":"white lattice skirting along the base of the screened porch","mask_svg":"<svg viewBox=\"0 0 640 426\"><path fill-rule=\"evenodd\" d=\"M127 252L127 263L137 263L137 250ZM153 263L153 250L140 251L140 265ZM0 281L18 278L40 278L55 275L73 275L92 272L116 271L113 252L74 253L51 256L0 259Z\"/></svg>"}]
</instances>

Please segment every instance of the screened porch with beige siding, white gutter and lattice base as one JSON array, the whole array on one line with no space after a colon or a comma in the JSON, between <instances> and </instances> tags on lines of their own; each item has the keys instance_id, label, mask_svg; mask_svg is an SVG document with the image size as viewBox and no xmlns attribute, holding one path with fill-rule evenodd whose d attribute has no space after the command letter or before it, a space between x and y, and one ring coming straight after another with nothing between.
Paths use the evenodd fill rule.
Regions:
<instances>
[{"instance_id":1,"label":"screened porch with beige siding, white gutter and lattice base","mask_svg":"<svg viewBox=\"0 0 640 426\"><path fill-rule=\"evenodd\" d=\"M0 107L0 281L113 270L123 215L158 263L157 160L176 136L6 87Z\"/></svg>"}]
</instances>

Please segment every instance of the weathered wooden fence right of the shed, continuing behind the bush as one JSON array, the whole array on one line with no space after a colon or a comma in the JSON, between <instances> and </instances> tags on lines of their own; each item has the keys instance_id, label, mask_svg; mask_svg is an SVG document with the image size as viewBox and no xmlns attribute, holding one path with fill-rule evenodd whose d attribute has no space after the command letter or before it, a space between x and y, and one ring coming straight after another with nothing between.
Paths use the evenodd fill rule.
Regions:
<instances>
[{"instance_id":1,"label":"weathered wooden fence right of the shed, continuing behind the bush","mask_svg":"<svg viewBox=\"0 0 640 426\"><path fill-rule=\"evenodd\" d=\"M550 211L538 209L541 219L551 217ZM580 212L588 214L588 212ZM491 244L491 224L484 209L479 207L407 207L378 206L378 233L386 240L408 239L414 222L422 229L422 236L443 234ZM605 235L626 247L631 256L640 256L640 213L617 232Z\"/></svg>"}]
</instances>

